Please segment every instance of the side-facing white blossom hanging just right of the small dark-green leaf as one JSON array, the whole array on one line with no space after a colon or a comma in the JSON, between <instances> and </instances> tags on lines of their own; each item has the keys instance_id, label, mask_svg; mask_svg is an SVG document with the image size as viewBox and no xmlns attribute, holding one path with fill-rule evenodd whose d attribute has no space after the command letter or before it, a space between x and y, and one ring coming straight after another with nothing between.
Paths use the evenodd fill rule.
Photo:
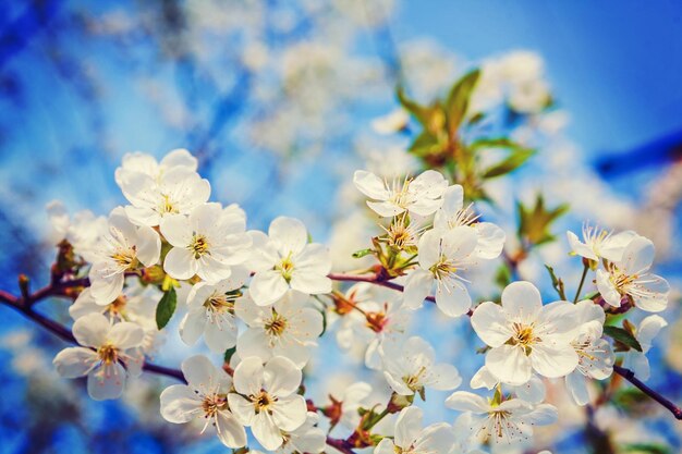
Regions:
<instances>
[{"instance_id":1,"label":"side-facing white blossom hanging just right of the small dark-green leaf","mask_svg":"<svg viewBox=\"0 0 682 454\"><path fill-rule=\"evenodd\" d=\"M187 314L180 322L180 338L194 345L204 335L211 352L223 353L236 345L234 302L248 279L248 270L233 267L230 278L215 284L199 282L187 295Z\"/></svg>"}]
</instances>

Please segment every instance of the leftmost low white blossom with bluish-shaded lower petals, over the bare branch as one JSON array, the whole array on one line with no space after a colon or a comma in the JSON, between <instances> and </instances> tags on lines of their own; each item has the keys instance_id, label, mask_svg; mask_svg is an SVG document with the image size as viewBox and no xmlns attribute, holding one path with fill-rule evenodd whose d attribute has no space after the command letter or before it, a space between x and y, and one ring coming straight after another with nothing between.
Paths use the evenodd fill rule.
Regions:
<instances>
[{"instance_id":1,"label":"leftmost low white blossom with bluish-shaded lower petals, over the bare branch","mask_svg":"<svg viewBox=\"0 0 682 454\"><path fill-rule=\"evenodd\" d=\"M101 314L81 317L73 323L80 347L62 349L52 361L60 376L87 376L87 392L96 401L118 398L125 377L142 373L143 358L134 352L144 338L135 323L110 324Z\"/></svg>"}]
</instances>

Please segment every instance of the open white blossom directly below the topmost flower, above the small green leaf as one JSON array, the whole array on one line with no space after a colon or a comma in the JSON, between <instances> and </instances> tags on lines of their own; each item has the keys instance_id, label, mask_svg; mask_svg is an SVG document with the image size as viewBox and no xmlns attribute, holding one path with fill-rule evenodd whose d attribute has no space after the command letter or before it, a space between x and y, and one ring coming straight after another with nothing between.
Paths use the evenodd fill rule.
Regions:
<instances>
[{"instance_id":1,"label":"open white blossom directly below the topmost flower, above the small green leaf","mask_svg":"<svg viewBox=\"0 0 682 454\"><path fill-rule=\"evenodd\" d=\"M195 274L207 282L227 279L232 266L246 259L251 240L245 233L246 219L239 208L205 204L188 217L168 214L161 220L161 233L173 246L163 260L163 270L174 279Z\"/></svg>"}]
</instances>

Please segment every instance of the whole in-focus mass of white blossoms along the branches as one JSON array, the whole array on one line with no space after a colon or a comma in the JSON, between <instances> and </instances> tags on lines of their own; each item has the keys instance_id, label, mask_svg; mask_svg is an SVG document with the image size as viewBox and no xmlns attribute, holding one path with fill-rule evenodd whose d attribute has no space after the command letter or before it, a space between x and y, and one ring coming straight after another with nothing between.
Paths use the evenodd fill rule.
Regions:
<instances>
[{"instance_id":1,"label":"whole in-focus mass of white blossoms along the branches","mask_svg":"<svg viewBox=\"0 0 682 454\"><path fill-rule=\"evenodd\" d=\"M178 329L185 344L203 342L224 363L185 359L186 384L161 393L161 415L173 424L203 421L203 431L214 430L229 447L247 445L248 428L265 450L319 453L338 424L354 430L354 447L375 446L377 454L524 443L534 426L558 419L545 402L547 379L565 380L579 405L590 402L593 380L611 376L617 354L646 379L646 352L666 326L658 315L637 327L607 322L614 310L665 309L669 286L649 271L650 241L588 226L582 241L568 233L585 270L573 302L560 295L544 304L536 285L516 281L499 300L476 304L472 277L504 254L506 233L434 170L391 182L355 172L378 222L372 247L355 254L375 265L357 275L330 273L329 250L297 219L279 217L267 233L247 230L238 205L209 201L210 184L184 149L161 161L126 155L115 181L127 205L108 219L82 213L72 221L59 205L49 208L60 250L71 251L60 256L64 271L89 278L69 310L80 346L53 364L63 377L86 376L93 398L117 398L159 351L163 332ZM588 272L597 293L583 295ZM488 397L454 391L462 384L456 367L410 333L425 302L471 320L485 364L470 385ZM174 315L179 323L169 324ZM339 346L361 348L365 366L383 378L388 403L370 405L364 382L328 406L306 402L303 369L328 321ZM414 404L427 390L453 391L443 402L461 413L453 425L423 427ZM387 415L397 415L394 437L374 431Z\"/></svg>"}]
</instances>

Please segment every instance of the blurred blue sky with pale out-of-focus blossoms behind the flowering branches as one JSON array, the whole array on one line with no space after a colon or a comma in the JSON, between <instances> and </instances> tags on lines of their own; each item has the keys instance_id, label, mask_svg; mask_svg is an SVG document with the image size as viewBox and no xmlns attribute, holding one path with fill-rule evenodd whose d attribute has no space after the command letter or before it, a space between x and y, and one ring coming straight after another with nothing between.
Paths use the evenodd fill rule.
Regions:
<instances>
[{"instance_id":1,"label":"blurred blue sky with pale out-of-focus blossoms behind the flowering branches","mask_svg":"<svg viewBox=\"0 0 682 454\"><path fill-rule=\"evenodd\" d=\"M681 25L674 0L4 0L0 289L16 293L20 272L36 287L47 282L54 257L47 203L107 214L125 203L113 181L125 152L160 158L179 147L199 158L211 198L240 204L249 228L299 217L316 241L330 244L339 270L353 269L350 254L373 234L361 235L363 221L348 208L357 201L349 189L353 171L415 165L404 151L410 132L387 136L375 121L399 107L397 84L427 102L467 70L522 54L536 64L551 109L522 112L503 100L525 115L510 134L538 152L513 176L491 182L492 216L514 232L516 199L539 191L551 206L570 205L555 229L558 241L520 270L545 285L543 262L558 263L569 282L580 277L580 263L565 260L563 231L583 220L651 237L658 271L678 292L665 312L670 327L649 353L648 384L682 402L682 327L674 322L682 278ZM65 309L64 300L41 306L69 323ZM460 352L475 336L433 310L413 330L434 320L439 329L429 340L442 346L443 360L456 361L466 383L482 357ZM176 334L167 343L178 348L155 359L176 367L191 349ZM333 336L321 344L338 349ZM0 307L0 453L224 451L217 440L161 420L158 378L143 378L120 401L88 400L83 383L52 371L63 346ZM376 379L351 359L333 363L317 360L313 375L342 383L353 370ZM324 398L333 380L313 382L312 392ZM680 452L680 425L635 401L598 415L602 431L623 446L645 438L660 453ZM584 412L561 408L560 430L540 432L540 445L555 454L587 452L594 443ZM454 416L439 406L428 420Z\"/></svg>"}]
</instances>

